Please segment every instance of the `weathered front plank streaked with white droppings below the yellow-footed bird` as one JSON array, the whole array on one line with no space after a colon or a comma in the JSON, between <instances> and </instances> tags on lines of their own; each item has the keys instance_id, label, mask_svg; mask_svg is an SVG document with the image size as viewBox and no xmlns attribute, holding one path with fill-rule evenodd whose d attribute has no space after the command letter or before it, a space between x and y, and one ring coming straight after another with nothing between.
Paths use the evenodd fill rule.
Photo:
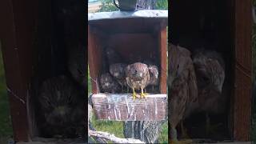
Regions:
<instances>
[{"instance_id":1,"label":"weathered front plank streaked with white droppings below the yellow-footed bird","mask_svg":"<svg viewBox=\"0 0 256 144\"><path fill-rule=\"evenodd\" d=\"M132 94L93 94L92 102L98 119L112 121L161 121L166 119L166 94L149 94L146 98L135 100Z\"/></svg>"}]
</instances>

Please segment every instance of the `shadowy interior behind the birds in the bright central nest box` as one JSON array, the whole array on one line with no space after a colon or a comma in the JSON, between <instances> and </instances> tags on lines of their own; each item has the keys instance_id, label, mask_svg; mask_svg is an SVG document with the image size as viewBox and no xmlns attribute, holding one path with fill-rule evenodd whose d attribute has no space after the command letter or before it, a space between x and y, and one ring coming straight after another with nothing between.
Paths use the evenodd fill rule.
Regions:
<instances>
[{"instance_id":1,"label":"shadowy interior behind the birds in the bright central nest box","mask_svg":"<svg viewBox=\"0 0 256 144\"><path fill-rule=\"evenodd\" d=\"M109 64L106 61L105 48L114 49L121 57L122 62L131 64L134 62L150 61L158 66L159 77L161 76L160 62L160 44L159 33L161 30L161 22L156 18L124 18L112 20L91 21L90 30L97 42L97 46L90 47L93 51L97 51L97 57L101 59L100 65L91 65L94 71L92 75L96 75L99 80L101 74L109 72ZM102 55L102 56L101 56ZM105 59L105 60L103 60ZM89 59L90 61L90 59ZM89 62L90 63L90 62ZM97 66L98 68L95 68ZM100 88L100 86L98 85ZM147 93L160 93L160 86L154 86L154 90L148 86ZM98 88L98 89L99 89ZM99 92L103 92L99 90ZM131 92L131 90L130 90ZM126 93L122 91L122 93Z\"/></svg>"}]
</instances>

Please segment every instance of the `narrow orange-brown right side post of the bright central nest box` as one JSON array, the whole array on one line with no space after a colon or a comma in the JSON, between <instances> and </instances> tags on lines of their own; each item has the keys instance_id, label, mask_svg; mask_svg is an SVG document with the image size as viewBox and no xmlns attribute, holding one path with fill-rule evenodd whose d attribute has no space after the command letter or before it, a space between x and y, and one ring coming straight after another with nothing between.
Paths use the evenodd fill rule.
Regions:
<instances>
[{"instance_id":1,"label":"narrow orange-brown right side post of the bright central nest box","mask_svg":"<svg viewBox=\"0 0 256 144\"><path fill-rule=\"evenodd\" d=\"M160 75L160 92L161 94L166 94L166 78L167 78L167 71L166 71L166 46L167 46L167 38L166 38L166 26L162 27L161 31L159 32L159 48L160 48L160 62L161 62L161 75Z\"/></svg>"}]
</instances>

